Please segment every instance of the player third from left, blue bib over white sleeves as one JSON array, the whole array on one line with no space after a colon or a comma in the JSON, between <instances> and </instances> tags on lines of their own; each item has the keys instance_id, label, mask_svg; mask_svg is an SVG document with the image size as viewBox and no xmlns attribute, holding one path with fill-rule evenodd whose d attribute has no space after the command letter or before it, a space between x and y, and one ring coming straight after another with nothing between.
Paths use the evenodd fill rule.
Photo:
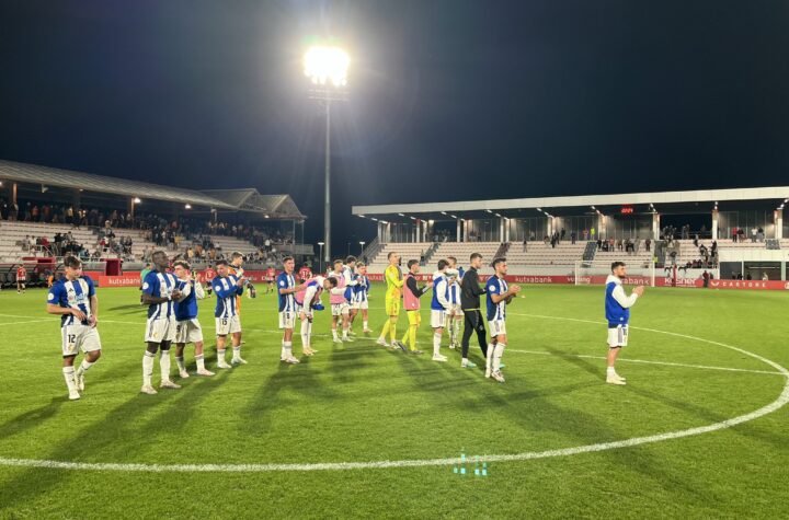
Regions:
<instances>
[{"instance_id":1,"label":"player third from left, blue bib over white sleeves","mask_svg":"<svg viewBox=\"0 0 789 520\"><path fill-rule=\"evenodd\" d=\"M184 363L183 351L187 343L195 346L195 361L197 363L197 375L214 375L214 372L206 370L205 358L203 357L203 327L197 320L197 300L205 298L203 284L192 277L191 266L186 261L173 263L173 271L178 278L178 288L181 298L175 304L175 363L179 367L181 378L188 378L186 365Z\"/></svg>"}]
</instances>

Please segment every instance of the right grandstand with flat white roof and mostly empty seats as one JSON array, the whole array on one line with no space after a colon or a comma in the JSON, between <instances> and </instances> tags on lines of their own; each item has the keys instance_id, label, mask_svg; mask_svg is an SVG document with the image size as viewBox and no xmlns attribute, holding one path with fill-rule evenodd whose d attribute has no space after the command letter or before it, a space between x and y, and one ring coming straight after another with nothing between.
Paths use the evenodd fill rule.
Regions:
<instances>
[{"instance_id":1,"label":"right grandstand with flat white roof and mostly empty seats","mask_svg":"<svg viewBox=\"0 0 789 520\"><path fill-rule=\"evenodd\" d=\"M464 263L478 251L488 258L506 256L512 275L547 282L571 282L579 264L614 259L691 280L706 270L718 280L786 281L787 201L789 186L779 186L354 206L352 211L377 224L377 236L363 253L375 274L382 273L389 251L422 258L423 271L439 258Z\"/></svg>"}]
</instances>

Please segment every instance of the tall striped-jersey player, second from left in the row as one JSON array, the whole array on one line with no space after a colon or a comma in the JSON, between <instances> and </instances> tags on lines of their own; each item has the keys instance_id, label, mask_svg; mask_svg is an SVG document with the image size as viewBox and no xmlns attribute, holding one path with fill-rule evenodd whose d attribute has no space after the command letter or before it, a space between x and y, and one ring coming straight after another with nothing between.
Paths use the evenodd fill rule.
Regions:
<instances>
[{"instance_id":1,"label":"tall striped-jersey player, second from left in the row","mask_svg":"<svg viewBox=\"0 0 789 520\"><path fill-rule=\"evenodd\" d=\"M159 369L161 370L162 389L180 389L181 386L170 380L170 346L175 340L175 302L181 298L175 276L167 271L170 258L163 251L156 251L151 255L153 270L146 275L142 281L142 303L148 304L148 324L145 340L148 348L142 356L142 393L153 395L157 391L151 385L153 375L153 359L157 350L159 355Z\"/></svg>"}]
</instances>

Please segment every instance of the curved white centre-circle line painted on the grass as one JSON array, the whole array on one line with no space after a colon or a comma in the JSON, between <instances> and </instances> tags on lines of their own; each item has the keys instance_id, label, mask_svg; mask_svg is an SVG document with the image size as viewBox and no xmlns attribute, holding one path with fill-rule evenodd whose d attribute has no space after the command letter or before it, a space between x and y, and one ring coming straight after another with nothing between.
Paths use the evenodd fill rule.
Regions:
<instances>
[{"instance_id":1,"label":"curved white centre-circle line painted on the grass","mask_svg":"<svg viewBox=\"0 0 789 520\"><path fill-rule=\"evenodd\" d=\"M523 316L531 317L545 317L551 320L568 320L575 322L586 322L593 324L601 324L601 322L592 320L579 320L574 317L559 317L559 316L540 316L534 314L518 314ZM632 327L637 328L637 327ZM696 428L688 428L677 431L668 431L665 434L656 434L645 437L633 437L632 439L617 440L611 442L599 442L596 444L578 446L573 448L563 448L558 450L546 450L546 451L527 451L524 453L512 453L512 454L499 454L499 455L487 455L485 460L489 462L512 462L512 461L528 461L534 459L548 459L551 457L568 457L576 455L580 453L593 453L598 451L614 450L619 448L631 448L640 444L649 444L652 442L662 442L665 440L681 439L683 437L691 437L702 434L709 434L712 431L723 430L733 426L747 423L750 420L764 417L765 415L771 414L773 412L781 408L789 403L789 370L771 361L758 354L751 353L748 350L727 345L711 339L705 339L701 337L688 336L685 334L677 334L665 331L658 331L654 328L642 328L642 331L650 331L660 334L666 334L671 336L684 337L710 345L717 345L730 350L737 351L745 356L750 356L758 361L769 365L776 369L780 374L786 378L784 390L781 391L778 398L773 401L766 406L763 406L754 412L737 417L721 420L707 426L699 426ZM602 385L602 384L601 384ZM390 467L423 467L423 466L446 466L460 463L459 458L454 459L415 459L415 460L401 460L401 461L367 461L367 462L319 462L319 463L285 463L285 464L119 464L119 463L88 463L88 462L68 462L68 461L52 461L52 460L35 460L35 459L10 459L0 458L0 465L7 466L21 466L21 467L45 467L52 470L72 470L72 471L119 471L119 472L139 472L139 473L260 473L260 472L285 472L285 471L342 471L342 470L373 470L373 469L390 469Z\"/></svg>"}]
</instances>

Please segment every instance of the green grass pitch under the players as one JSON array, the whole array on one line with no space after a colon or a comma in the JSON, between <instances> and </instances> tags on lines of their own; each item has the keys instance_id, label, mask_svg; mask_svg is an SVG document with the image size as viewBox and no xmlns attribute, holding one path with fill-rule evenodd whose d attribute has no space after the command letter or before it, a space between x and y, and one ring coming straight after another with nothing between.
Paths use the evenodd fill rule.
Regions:
<instances>
[{"instance_id":1,"label":"green grass pitch under the players","mask_svg":"<svg viewBox=\"0 0 789 520\"><path fill-rule=\"evenodd\" d=\"M370 302L382 325L382 290ZM603 383L599 287L526 287L510 307L507 382L427 355L361 338L298 366L278 362L273 297L244 299L249 365L180 391L138 393L145 312L135 289L100 289L101 361L68 402L58 321L45 293L0 293L0 458L117 463L313 463L505 454L616 441L704 426L780 394L779 374L627 362L626 359L774 371L734 345L789 366L789 294L652 289L633 309L630 346ZM214 369L213 299L201 319ZM430 350L427 311L420 333ZM597 323L551 320L561 316ZM19 317L21 316L21 317ZM32 322L32 323L27 323ZM319 313L315 332L329 332ZM404 332L401 319L399 336ZM361 323L357 323L361 330ZM295 351L300 342L295 340ZM540 354L516 353L515 350ZM482 363L472 343L472 358ZM194 361L187 348L191 370ZM173 362L173 370L175 363ZM155 370L158 379L159 367ZM178 378L174 378L178 381ZM789 409L695 437L521 462L490 476L450 466L270 473L133 473L0 465L0 518L786 518Z\"/></svg>"}]
</instances>

